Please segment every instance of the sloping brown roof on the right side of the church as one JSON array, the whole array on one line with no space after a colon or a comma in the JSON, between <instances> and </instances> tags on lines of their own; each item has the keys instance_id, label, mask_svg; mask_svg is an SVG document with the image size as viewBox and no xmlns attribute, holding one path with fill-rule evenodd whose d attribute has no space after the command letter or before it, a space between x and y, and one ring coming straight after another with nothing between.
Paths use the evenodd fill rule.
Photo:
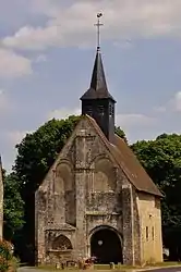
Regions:
<instances>
[{"instance_id":1,"label":"sloping brown roof on the right side of the church","mask_svg":"<svg viewBox=\"0 0 181 272\"><path fill-rule=\"evenodd\" d=\"M116 145L112 145L108 141L105 134L101 132L100 127L96 123L94 119L86 115L90 124L96 129L99 137L105 143L106 147L109 149L110 153L114 158L118 165L122 169L125 176L129 178L130 183L138 190L144 191L150 195L155 195L158 197L162 197L162 194L159 191L156 184L148 176L142 164L140 163L136 156L133 153L131 148L126 145L126 143L120 138L118 135L116 136Z\"/></svg>"}]
</instances>

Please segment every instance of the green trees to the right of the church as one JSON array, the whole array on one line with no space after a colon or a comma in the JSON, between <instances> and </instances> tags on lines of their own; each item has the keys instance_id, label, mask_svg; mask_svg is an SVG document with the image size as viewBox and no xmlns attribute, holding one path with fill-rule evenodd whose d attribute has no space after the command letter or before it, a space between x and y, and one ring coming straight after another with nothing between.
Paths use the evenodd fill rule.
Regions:
<instances>
[{"instance_id":1,"label":"green trees to the right of the church","mask_svg":"<svg viewBox=\"0 0 181 272\"><path fill-rule=\"evenodd\" d=\"M181 248L181 135L162 134L155 140L137 141L132 149L164 194L164 242L176 257L176 249Z\"/></svg>"}]
</instances>

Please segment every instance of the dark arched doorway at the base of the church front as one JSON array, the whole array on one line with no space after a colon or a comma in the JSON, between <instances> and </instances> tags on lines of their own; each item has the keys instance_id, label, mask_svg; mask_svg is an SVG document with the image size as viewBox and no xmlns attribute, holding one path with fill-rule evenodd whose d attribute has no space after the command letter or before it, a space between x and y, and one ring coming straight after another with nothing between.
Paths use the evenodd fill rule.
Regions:
<instances>
[{"instance_id":1,"label":"dark arched doorway at the base of the church front","mask_svg":"<svg viewBox=\"0 0 181 272\"><path fill-rule=\"evenodd\" d=\"M105 227L90 237L90 254L98 263L122 262L122 247L116 231Z\"/></svg>"}]
</instances>

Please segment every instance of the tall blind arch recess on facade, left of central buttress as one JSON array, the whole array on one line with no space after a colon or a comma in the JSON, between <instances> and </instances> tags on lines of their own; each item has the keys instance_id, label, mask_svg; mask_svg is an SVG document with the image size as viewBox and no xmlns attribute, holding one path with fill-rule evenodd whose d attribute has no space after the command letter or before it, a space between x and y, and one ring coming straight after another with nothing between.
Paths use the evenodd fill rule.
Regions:
<instances>
[{"instance_id":1,"label":"tall blind arch recess on facade, left of central buttress","mask_svg":"<svg viewBox=\"0 0 181 272\"><path fill-rule=\"evenodd\" d=\"M62 160L56 168L55 196L58 196L58 218L62 223L75 225L75 182L72 165L69 161ZM60 211L63 217L61 217ZM59 221L60 222L60 221Z\"/></svg>"}]
</instances>

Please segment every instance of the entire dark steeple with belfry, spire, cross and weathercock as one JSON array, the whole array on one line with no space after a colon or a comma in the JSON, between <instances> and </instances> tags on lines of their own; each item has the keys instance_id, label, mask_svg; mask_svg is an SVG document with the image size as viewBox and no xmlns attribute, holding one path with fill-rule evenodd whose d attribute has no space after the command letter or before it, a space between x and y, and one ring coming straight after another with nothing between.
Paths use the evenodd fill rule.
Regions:
<instances>
[{"instance_id":1,"label":"entire dark steeple with belfry, spire, cross and weathercock","mask_svg":"<svg viewBox=\"0 0 181 272\"><path fill-rule=\"evenodd\" d=\"M100 17L97 14L97 50L89 89L81 97L82 114L95 119L109 141L114 143L114 103L109 94L100 53Z\"/></svg>"}]
</instances>

